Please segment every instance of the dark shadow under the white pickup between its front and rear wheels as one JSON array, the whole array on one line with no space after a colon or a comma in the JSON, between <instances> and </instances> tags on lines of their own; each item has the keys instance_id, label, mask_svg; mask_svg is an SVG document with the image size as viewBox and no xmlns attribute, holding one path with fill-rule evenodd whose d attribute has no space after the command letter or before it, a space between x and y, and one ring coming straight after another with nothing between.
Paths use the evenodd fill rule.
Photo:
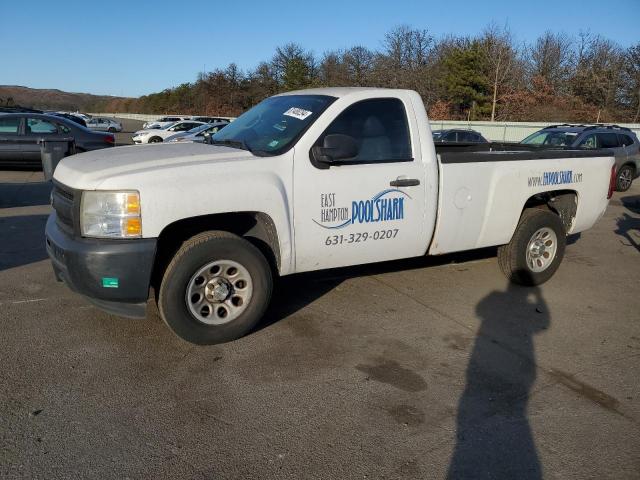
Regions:
<instances>
[{"instance_id":1,"label":"dark shadow under the white pickup between its front and rear wheels","mask_svg":"<svg viewBox=\"0 0 640 480\"><path fill-rule=\"evenodd\" d=\"M455 254L408 258L282 277L276 280L270 307L254 331L262 330L293 315L350 278L465 263L495 256L496 248L484 248Z\"/></svg>"}]
</instances>

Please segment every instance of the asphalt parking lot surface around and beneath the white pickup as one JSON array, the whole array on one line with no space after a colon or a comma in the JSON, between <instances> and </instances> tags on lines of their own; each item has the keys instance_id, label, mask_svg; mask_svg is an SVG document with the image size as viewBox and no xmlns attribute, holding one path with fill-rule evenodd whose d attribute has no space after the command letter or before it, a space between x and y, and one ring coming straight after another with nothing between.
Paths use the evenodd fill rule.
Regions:
<instances>
[{"instance_id":1,"label":"asphalt parking lot surface around and beneath the white pickup","mask_svg":"<svg viewBox=\"0 0 640 480\"><path fill-rule=\"evenodd\" d=\"M540 288L493 249L298 275L213 347L56 283L48 203L0 171L1 478L638 478L640 181Z\"/></svg>"}]
</instances>

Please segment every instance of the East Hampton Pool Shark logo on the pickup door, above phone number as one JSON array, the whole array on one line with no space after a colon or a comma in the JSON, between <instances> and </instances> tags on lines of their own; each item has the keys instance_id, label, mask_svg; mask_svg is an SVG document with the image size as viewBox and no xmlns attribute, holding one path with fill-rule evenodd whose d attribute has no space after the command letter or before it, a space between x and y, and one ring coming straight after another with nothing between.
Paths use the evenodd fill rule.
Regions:
<instances>
[{"instance_id":1,"label":"East Hampton Pool Shark logo on the pickup door, above phone number","mask_svg":"<svg viewBox=\"0 0 640 480\"><path fill-rule=\"evenodd\" d=\"M360 223L388 222L404 219L404 201L411 196L397 188L383 190L370 200L353 200L351 209L336 207L335 193L320 197L320 221L316 225L335 230Z\"/></svg>"}]
</instances>

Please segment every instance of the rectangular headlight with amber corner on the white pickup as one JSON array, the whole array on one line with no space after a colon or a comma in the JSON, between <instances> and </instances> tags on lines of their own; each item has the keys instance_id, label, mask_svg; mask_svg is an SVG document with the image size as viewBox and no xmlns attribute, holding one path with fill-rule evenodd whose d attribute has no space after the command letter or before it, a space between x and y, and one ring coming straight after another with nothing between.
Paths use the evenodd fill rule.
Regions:
<instances>
[{"instance_id":1,"label":"rectangular headlight with amber corner on the white pickup","mask_svg":"<svg viewBox=\"0 0 640 480\"><path fill-rule=\"evenodd\" d=\"M134 190L83 192L80 231L84 237L141 237L140 194Z\"/></svg>"}]
</instances>

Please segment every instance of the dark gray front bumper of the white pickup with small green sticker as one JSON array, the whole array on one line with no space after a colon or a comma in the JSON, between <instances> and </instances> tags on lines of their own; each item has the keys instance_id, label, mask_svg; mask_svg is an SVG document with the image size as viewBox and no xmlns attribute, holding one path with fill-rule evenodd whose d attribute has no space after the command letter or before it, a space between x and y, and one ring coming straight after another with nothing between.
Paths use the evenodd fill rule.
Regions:
<instances>
[{"instance_id":1,"label":"dark gray front bumper of the white pickup with small green sticker","mask_svg":"<svg viewBox=\"0 0 640 480\"><path fill-rule=\"evenodd\" d=\"M47 220L45 237L58 281L106 312L146 315L156 239L79 238L58 226L55 213Z\"/></svg>"}]
</instances>

